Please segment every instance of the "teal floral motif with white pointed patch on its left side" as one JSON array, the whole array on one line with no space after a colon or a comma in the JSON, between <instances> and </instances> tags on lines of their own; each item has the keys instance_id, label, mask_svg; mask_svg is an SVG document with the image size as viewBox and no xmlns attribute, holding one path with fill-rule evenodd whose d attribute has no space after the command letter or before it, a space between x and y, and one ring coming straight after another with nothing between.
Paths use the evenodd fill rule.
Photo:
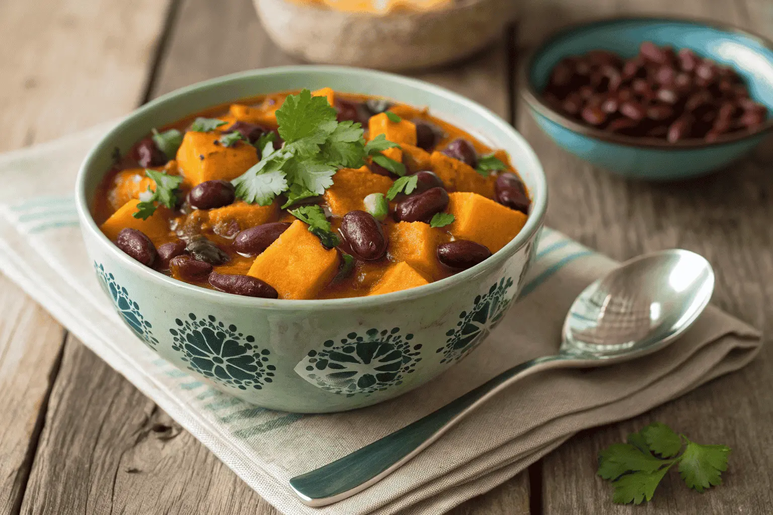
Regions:
<instances>
[{"instance_id":1,"label":"teal floral motif with white pointed patch on its left side","mask_svg":"<svg viewBox=\"0 0 773 515\"><path fill-rule=\"evenodd\" d=\"M413 334L369 329L364 336L349 333L338 344L328 340L317 350L308 351L295 372L322 390L351 397L372 394L400 385L421 361L421 344Z\"/></svg>"}]
</instances>

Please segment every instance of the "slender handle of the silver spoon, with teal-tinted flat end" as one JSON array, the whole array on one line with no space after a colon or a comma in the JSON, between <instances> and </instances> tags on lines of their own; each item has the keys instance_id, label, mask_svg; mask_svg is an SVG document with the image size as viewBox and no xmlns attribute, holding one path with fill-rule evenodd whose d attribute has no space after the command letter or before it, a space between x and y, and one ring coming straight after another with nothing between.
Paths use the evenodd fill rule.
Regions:
<instances>
[{"instance_id":1,"label":"slender handle of the silver spoon, with teal-tinted flat end","mask_svg":"<svg viewBox=\"0 0 773 515\"><path fill-rule=\"evenodd\" d=\"M290 479L301 501L320 507L337 503L399 469L475 408L520 378L536 371L570 366L566 356L537 357L502 372L442 408L334 462Z\"/></svg>"}]
</instances>

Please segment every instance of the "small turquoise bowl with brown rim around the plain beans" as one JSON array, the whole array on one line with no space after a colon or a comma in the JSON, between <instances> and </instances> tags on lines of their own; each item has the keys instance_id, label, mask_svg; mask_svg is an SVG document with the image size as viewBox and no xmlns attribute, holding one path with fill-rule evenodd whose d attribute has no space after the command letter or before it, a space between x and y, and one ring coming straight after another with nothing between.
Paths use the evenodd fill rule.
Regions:
<instances>
[{"instance_id":1,"label":"small turquoise bowl with brown rim around the plain beans","mask_svg":"<svg viewBox=\"0 0 773 515\"><path fill-rule=\"evenodd\" d=\"M729 134L712 143L677 142L609 134L564 117L541 100L550 70L567 56L605 49L624 57L644 41L693 49L733 66L751 97L768 106L768 121L754 132ZM630 178L667 181L723 168L760 143L773 128L773 43L728 25L680 19L618 18L564 29L526 61L522 94L537 124L577 157Z\"/></svg>"}]
</instances>

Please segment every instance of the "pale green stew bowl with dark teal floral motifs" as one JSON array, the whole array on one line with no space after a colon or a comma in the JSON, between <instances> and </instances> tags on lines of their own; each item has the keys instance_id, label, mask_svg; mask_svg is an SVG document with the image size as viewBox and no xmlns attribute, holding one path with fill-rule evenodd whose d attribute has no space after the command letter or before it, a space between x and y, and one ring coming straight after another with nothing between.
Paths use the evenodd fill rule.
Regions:
<instances>
[{"instance_id":1,"label":"pale green stew bowl with dark teal floral motifs","mask_svg":"<svg viewBox=\"0 0 773 515\"><path fill-rule=\"evenodd\" d=\"M90 206L114 149L123 154L151 127L207 107L322 86L427 106L508 151L533 196L526 226L494 256L448 279L386 295L335 300L256 299L182 283L131 259L97 228ZM337 66L237 73L146 104L90 151L78 174L76 198L97 278L139 338L128 344L141 341L222 391L286 412L373 405L416 388L465 357L519 293L547 206L540 161L523 137L491 111L419 80Z\"/></svg>"}]
</instances>

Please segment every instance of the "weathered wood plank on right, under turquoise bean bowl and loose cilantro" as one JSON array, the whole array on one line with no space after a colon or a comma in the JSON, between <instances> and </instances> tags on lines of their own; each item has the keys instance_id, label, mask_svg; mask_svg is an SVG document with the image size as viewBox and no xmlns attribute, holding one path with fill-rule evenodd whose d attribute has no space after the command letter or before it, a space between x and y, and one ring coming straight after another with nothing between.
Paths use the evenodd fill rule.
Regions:
<instances>
[{"instance_id":1,"label":"weathered wood plank on right, under turquoise bean bowl and loose cilantro","mask_svg":"<svg viewBox=\"0 0 773 515\"><path fill-rule=\"evenodd\" d=\"M522 26L519 54L533 35L613 12L714 16L770 36L761 2L551 2L536 5ZM768 9L768 18L770 16ZM751 158L707 178L653 185L624 181L560 150L519 107L517 127L543 161L550 187L547 224L584 244L627 259L680 246L706 256L717 272L714 302L770 334L773 329L773 156L764 147ZM770 142L768 142L770 144ZM768 336L768 340L770 337ZM768 513L773 502L773 351L770 342L743 371L711 382L652 412L618 425L586 431L543 460L543 513ZM700 495L670 474L645 507L611 503L611 486L596 477L599 449L654 420L697 442L734 449L724 485Z\"/></svg>"}]
</instances>

